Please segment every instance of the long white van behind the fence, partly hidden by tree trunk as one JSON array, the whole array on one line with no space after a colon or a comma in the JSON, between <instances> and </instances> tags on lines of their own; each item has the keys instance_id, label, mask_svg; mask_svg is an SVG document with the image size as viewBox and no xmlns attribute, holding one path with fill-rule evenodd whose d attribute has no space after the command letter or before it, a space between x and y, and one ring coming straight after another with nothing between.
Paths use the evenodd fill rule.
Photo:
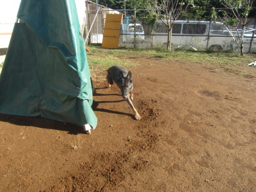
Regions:
<instances>
[{"instance_id":1,"label":"long white van behind the fence, partly hidden by tree trunk","mask_svg":"<svg viewBox=\"0 0 256 192\"><path fill-rule=\"evenodd\" d=\"M152 32L154 47L167 46L167 27L159 22ZM209 35L209 38L208 38ZM175 20L172 29L172 47L191 47L196 50L229 50L234 39L228 28L220 22Z\"/></svg>"}]
</instances>

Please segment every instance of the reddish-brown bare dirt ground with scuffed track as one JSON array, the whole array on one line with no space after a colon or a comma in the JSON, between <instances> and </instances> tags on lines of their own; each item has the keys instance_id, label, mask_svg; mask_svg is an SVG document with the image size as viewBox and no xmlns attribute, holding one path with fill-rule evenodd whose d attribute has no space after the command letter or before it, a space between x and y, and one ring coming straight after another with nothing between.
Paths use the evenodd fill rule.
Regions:
<instances>
[{"instance_id":1,"label":"reddish-brown bare dirt ground with scuffed track","mask_svg":"<svg viewBox=\"0 0 256 192\"><path fill-rule=\"evenodd\" d=\"M105 81L91 135L0 114L0 191L256 191L256 68L128 59L141 120Z\"/></svg>"}]
</instances>

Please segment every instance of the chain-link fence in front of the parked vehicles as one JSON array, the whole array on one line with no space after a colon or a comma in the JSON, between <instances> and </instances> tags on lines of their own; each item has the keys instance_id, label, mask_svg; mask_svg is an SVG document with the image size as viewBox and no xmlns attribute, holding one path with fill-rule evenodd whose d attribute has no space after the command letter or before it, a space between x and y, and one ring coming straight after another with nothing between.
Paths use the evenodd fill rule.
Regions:
<instances>
[{"instance_id":1,"label":"chain-link fence in front of the parked vehicles","mask_svg":"<svg viewBox=\"0 0 256 192\"><path fill-rule=\"evenodd\" d=\"M118 11L123 13L123 10ZM92 17L92 12L90 14ZM168 29L163 23L155 22L149 25L143 18L135 17L131 10L129 12L130 17L126 15L121 25L119 47L167 49ZM101 26L98 26L98 31L101 31L104 27L104 18L101 19L102 22ZM256 19L248 18L248 24L243 36L244 53L256 53L255 25ZM233 30L227 28L223 24L222 18L217 20L180 18L174 23L170 45L173 49L193 49L195 51L239 51L240 45L235 40L235 38L239 38L239 35L241 36L241 29ZM92 30L89 42L91 44L101 43L102 37L103 34ZM237 41L239 42L239 40Z\"/></svg>"}]
</instances>

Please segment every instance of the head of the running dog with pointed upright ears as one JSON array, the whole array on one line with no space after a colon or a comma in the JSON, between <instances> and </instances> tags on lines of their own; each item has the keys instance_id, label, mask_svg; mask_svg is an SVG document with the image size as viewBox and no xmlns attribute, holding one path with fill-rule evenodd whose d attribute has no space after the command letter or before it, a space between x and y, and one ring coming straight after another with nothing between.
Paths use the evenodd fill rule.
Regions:
<instances>
[{"instance_id":1,"label":"head of the running dog with pointed upright ears","mask_svg":"<svg viewBox=\"0 0 256 192\"><path fill-rule=\"evenodd\" d=\"M129 93L133 90L133 79L131 71L127 73L126 77L124 77L123 72L120 71L118 84L122 92L122 97L124 100L126 100Z\"/></svg>"}]
</instances>

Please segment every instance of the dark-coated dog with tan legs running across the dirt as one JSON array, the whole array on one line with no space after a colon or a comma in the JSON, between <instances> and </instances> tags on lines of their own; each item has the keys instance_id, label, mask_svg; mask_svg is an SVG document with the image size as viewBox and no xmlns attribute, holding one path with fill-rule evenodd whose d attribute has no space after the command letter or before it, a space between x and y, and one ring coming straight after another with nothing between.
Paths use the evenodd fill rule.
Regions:
<instances>
[{"instance_id":1,"label":"dark-coated dog with tan legs running across the dirt","mask_svg":"<svg viewBox=\"0 0 256 192\"><path fill-rule=\"evenodd\" d=\"M111 68L108 69L108 75L106 75L106 78L108 79L108 82L109 82L109 88L114 82L117 84L118 88L121 90L123 99L126 100L127 103L133 109L135 119L136 120L141 119L139 113L134 108L134 105L132 103L133 79L132 79L131 71L126 71L125 69L118 66L112 66ZM130 98L130 95L131 95L131 98Z\"/></svg>"}]
</instances>

